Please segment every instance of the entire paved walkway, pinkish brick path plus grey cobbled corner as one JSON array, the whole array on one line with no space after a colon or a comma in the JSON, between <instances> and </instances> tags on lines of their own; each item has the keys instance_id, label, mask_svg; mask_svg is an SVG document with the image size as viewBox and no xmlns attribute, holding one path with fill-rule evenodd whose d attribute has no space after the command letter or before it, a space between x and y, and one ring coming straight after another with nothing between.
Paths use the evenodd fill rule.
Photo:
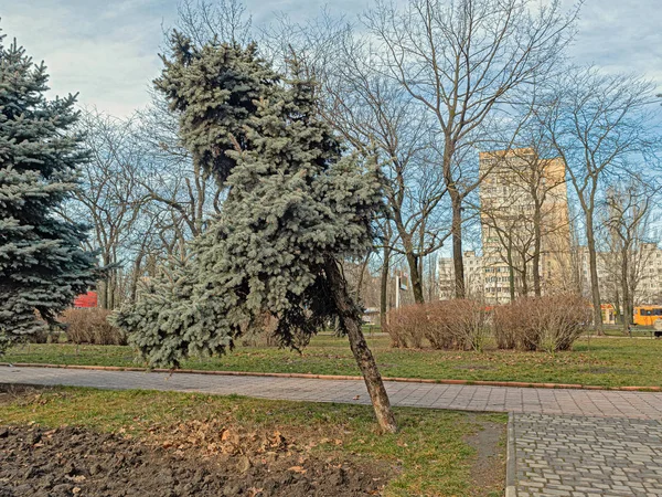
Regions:
<instances>
[{"instance_id":1,"label":"entire paved walkway, pinkish brick path plus grey cobbled corner","mask_svg":"<svg viewBox=\"0 0 662 497\"><path fill-rule=\"evenodd\" d=\"M0 367L0 383L367 404L362 381ZM520 497L662 496L662 393L386 382L394 405L514 414Z\"/></svg>"}]
</instances>

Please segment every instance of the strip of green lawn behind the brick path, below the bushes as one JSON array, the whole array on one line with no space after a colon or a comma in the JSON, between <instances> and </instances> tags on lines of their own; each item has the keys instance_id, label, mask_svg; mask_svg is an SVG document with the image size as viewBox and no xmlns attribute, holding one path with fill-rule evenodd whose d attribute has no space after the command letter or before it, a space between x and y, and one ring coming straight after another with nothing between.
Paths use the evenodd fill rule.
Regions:
<instances>
[{"instance_id":1,"label":"strip of green lawn behind the brick path, below the bushes","mask_svg":"<svg viewBox=\"0 0 662 497\"><path fill-rule=\"evenodd\" d=\"M393 349L386 336L367 338L385 377L579 383L600 387L662 385L662 340L581 338L572 351L554 355L488 350L460 352ZM129 347L67 343L18 346L8 362L142 366ZM238 347L221 358L192 358L186 369L359 374L349 343L316 337L298 353L276 347Z\"/></svg>"}]
</instances>

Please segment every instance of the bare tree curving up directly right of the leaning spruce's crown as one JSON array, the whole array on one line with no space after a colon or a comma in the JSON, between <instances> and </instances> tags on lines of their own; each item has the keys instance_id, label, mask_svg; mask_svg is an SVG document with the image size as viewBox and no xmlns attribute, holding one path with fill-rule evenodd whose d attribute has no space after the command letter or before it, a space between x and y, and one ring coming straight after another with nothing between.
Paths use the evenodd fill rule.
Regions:
<instances>
[{"instance_id":1,"label":"bare tree curving up directly right of the leaning spruce's crown","mask_svg":"<svg viewBox=\"0 0 662 497\"><path fill-rule=\"evenodd\" d=\"M323 12L296 24L282 18L266 34L273 54L296 53L316 77L320 113L345 141L363 155L380 155L387 215L397 232L388 251L406 257L415 302L423 303L423 260L449 235L438 209L447 189L430 146L428 116L402 85L375 71L370 42L342 19Z\"/></svg>"}]
</instances>

